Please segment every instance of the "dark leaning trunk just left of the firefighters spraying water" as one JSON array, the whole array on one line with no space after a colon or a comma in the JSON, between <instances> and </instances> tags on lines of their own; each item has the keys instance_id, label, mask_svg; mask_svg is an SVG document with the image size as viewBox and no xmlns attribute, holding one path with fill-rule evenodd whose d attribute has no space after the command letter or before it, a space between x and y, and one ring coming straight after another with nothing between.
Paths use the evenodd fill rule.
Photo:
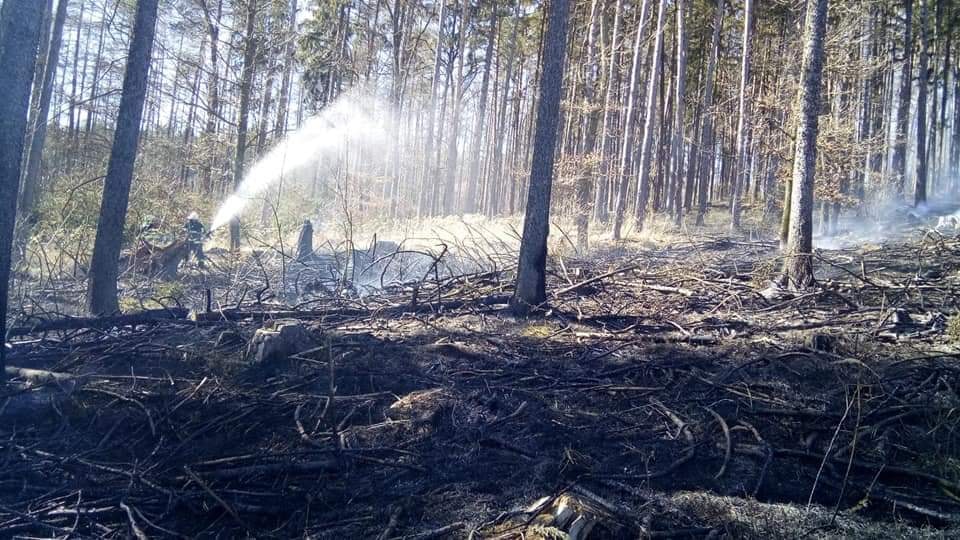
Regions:
<instances>
[{"instance_id":1,"label":"dark leaning trunk just left of the firefighters spraying water","mask_svg":"<svg viewBox=\"0 0 960 540\"><path fill-rule=\"evenodd\" d=\"M157 24L157 1L138 0L127 69L123 77L123 93L117 112L117 129L113 136L110 164L103 185L100 220L90 261L87 286L87 309L93 315L109 315L120 311L117 300L117 277L123 229L133 181L133 166L140 141L140 120L147 95L147 74Z\"/></svg>"}]
</instances>

